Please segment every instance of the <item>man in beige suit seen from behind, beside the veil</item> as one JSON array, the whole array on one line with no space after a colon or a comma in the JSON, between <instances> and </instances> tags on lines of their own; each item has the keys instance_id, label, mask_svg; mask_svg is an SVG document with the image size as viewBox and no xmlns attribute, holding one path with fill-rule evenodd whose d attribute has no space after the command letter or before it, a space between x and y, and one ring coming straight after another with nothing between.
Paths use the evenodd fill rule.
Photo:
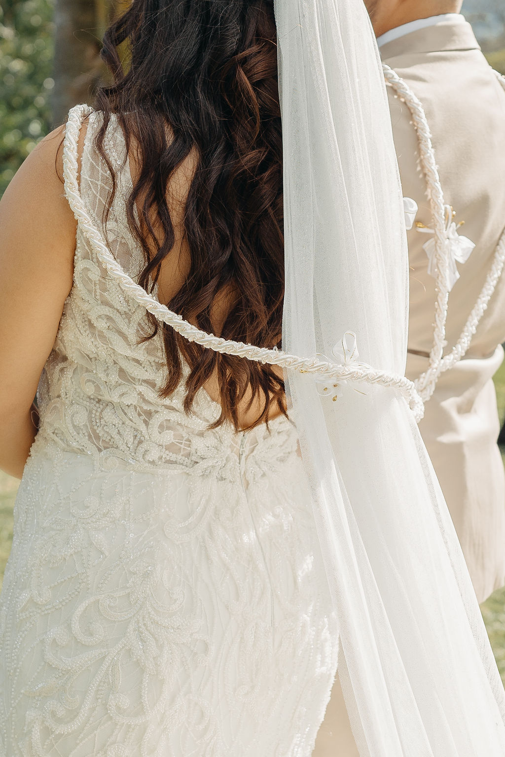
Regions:
<instances>
[{"instance_id":1,"label":"man in beige suit seen from behind, beside the veil","mask_svg":"<svg viewBox=\"0 0 505 757\"><path fill-rule=\"evenodd\" d=\"M417 95L432 131L446 203L475 242L450 292L447 350L475 305L505 228L505 91L485 61L462 0L365 0L382 61ZM410 111L388 87L404 196L419 205L417 222L432 227ZM416 226L408 234L410 328L407 376L428 366L435 279L428 274ZM441 375L420 424L454 520L479 601L505 582L505 475L492 375L503 360L505 274L466 354Z\"/></svg>"}]
</instances>

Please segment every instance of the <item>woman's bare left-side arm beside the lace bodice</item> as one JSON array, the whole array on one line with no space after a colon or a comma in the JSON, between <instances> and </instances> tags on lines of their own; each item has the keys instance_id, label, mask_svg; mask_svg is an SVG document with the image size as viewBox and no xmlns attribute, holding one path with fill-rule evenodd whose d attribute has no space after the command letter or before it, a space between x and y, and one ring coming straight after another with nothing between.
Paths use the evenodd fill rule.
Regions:
<instances>
[{"instance_id":1,"label":"woman's bare left-side arm beside the lace bodice","mask_svg":"<svg viewBox=\"0 0 505 757\"><path fill-rule=\"evenodd\" d=\"M62 129L44 139L0 202L0 469L20 476L36 435L39 377L72 287L76 222L60 176Z\"/></svg>"}]
</instances>

